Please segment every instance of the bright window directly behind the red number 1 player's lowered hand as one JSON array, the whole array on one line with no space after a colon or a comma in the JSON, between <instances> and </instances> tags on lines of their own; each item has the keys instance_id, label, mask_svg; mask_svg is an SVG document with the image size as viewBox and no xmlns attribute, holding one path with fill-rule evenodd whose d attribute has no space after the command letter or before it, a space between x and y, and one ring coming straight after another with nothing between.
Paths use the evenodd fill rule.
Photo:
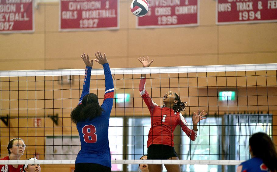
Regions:
<instances>
[{"instance_id":1,"label":"bright window directly behind the red number 1 player's lowered hand","mask_svg":"<svg viewBox=\"0 0 277 172\"><path fill-rule=\"evenodd\" d=\"M192 124L191 118L186 118L189 124ZM218 160L219 144L222 138L220 129L222 125L221 117L208 117L198 123L197 138L191 141L190 138L181 132L181 156L182 160ZM191 129L192 129L192 125ZM221 171L218 165L181 165L182 171Z\"/></svg>"}]
</instances>

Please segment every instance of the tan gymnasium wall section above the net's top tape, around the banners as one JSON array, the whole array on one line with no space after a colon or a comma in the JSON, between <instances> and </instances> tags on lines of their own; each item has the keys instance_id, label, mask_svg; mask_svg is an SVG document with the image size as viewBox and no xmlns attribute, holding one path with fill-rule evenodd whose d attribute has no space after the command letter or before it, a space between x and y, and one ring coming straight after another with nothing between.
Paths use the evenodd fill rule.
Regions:
<instances>
[{"instance_id":1,"label":"tan gymnasium wall section above the net's top tape, around the banners","mask_svg":"<svg viewBox=\"0 0 277 172\"><path fill-rule=\"evenodd\" d=\"M111 68L276 63L277 23L216 25L216 1L200 1L196 27L137 29L131 0L120 0L119 29L58 31L58 3L38 3L35 32L0 35L0 70L83 68L82 52L105 52ZM94 68L101 68L95 65Z\"/></svg>"}]
</instances>

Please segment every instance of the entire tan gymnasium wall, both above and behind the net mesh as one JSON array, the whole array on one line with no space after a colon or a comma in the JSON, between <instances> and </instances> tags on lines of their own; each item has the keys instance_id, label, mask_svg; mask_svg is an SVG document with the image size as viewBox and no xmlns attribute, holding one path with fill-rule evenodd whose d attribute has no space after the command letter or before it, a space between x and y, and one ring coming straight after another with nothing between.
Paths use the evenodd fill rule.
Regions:
<instances>
[{"instance_id":1,"label":"entire tan gymnasium wall, both above and behind the net mesh","mask_svg":"<svg viewBox=\"0 0 277 172\"><path fill-rule=\"evenodd\" d=\"M118 30L71 32L58 31L58 3L38 3L38 7L34 10L34 33L0 35L0 70L81 69L84 68L83 61L80 58L81 53L88 53L90 57L94 58L93 54L97 50L106 53L110 68L141 67L137 58L142 56L149 56L150 59L155 60L151 67L277 63L277 23L216 25L216 1L200 0L199 26L137 29L135 27L136 17L130 12L131 0L120 0L119 3L120 27ZM93 68L102 67L94 63ZM276 71L274 72L272 74L276 75ZM205 74L203 75L205 79ZM152 76L155 77L155 75ZM263 77L258 79L247 77L247 84L244 83L245 81L238 82L249 86L237 90L238 95L240 94L242 97L236 101L235 105L240 106L240 109L236 107L227 109L227 106L225 106L219 110L218 105L224 104L218 103L217 98L212 97L212 95L217 96L216 82L223 82L222 86L231 86L234 83L236 84L236 82L234 78L230 78L229 83L226 83L226 81L224 83L221 79L215 78L215 73L209 76L214 76L207 79L209 84L197 85L205 82L195 81L193 74L186 75L184 76L184 81L180 81L184 88L173 90L180 94L183 101L189 102L188 114L197 111L198 105L207 111L209 102L209 111L212 114L214 111L220 111L223 114L227 110L234 112L259 110L270 111L276 115L277 107L274 106L276 97L268 98L265 96L269 93L277 95L276 77L267 81L268 85L273 85L273 87L268 88L265 87L265 78ZM82 76L80 77L82 80ZM128 108L123 109L118 106L117 110L114 108L112 116L115 113L117 115L125 114L130 116L133 116L134 113L135 115L149 115L145 104L139 96L139 76L134 77L134 80L127 81L124 84L121 80L115 81L118 93L123 92L121 88L125 88L125 91L130 91L135 99L126 105ZM188 77L191 78L188 80ZM35 79L41 79L42 81L37 82L36 85L28 82L28 86L26 85L27 82L22 81L20 86L34 90L44 88L44 78L32 78L32 80ZM49 118L45 119L45 121L42 119L43 125L37 128L33 127L33 119L11 119L9 127L5 126L1 121L1 158L7 154L6 146L3 145L8 143L8 136L22 137L27 145L30 145L27 147L26 151L28 152L26 153L39 152L42 155L44 154L44 136L51 135L53 132L57 135L78 134L75 125L70 121L70 112L76 106L80 95L78 88L80 88L81 83L77 81L79 78L75 79L74 84L63 87L57 81L49 81L46 85L49 88L53 87L53 90L50 91L29 91L29 93L26 91L13 91L11 94L4 92L4 90L18 90L18 86L10 86L9 82L2 82L1 99L14 98L17 100L2 101L1 107L3 109L1 114L26 116L27 114L58 113L59 117L63 118L59 118L58 125L53 124ZM92 76L92 79L96 79L96 77ZM101 77L98 79L101 79ZM256 82L256 80L257 83L261 84L257 90L251 87L251 83ZM9 81L9 78L2 78L1 81ZM148 87L150 87L149 82L147 81L146 83ZM156 84L157 82L153 80L153 83ZM148 90L154 101L157 104L161 104L161 95L165 94L169 87L175 87L176 83L174 79L170 79L169 86L169 80L164 79L161 84L166 85L165 87L167 88L148 88ZM155 84L152 86L159 86L159 84ZM133 85L135 85L134 93L132 92ZM103 86L103 81L100 81L98 87L104 88ZM186 88L188 86L191 88ZM194 86L204 86L204 88L197 89ZM59 88L62 89L59 90ZM70 91L70 88L75 88L76 90ZM96 88L96 85L92 83L91 89L94 88ZM233 87L233 89L236 88ZM247 97L246 92L248 95L253 93L254 97ZM259 97L257 94L264 96ZM103 90L99 90L98 95L103 98ZM202 96L200 101L196 98L197 96ZM26 99L26 97L30 100L18 100ZM247 105L253 106L249 106L249 109ZM263 109L264 105L270 105L270 109ZM144 108L141 108L142 106ZM11 108L22 107L25 109L10 110ZM51 110L51 108L55 110ZM273 135L277 135L276 122L277 120L274 117ZM274 140L276 143L277 138L274 137ZM37 146L35 147L34 145ZM31 156L28 155L27 157ZM22 159L25 158L26 155L22 156ZM61 172L68 171L69 167L73 166L55 166ZM46 169L47 167L44 167L42 171L47 171Z\"/></svg>"}]
</instances>

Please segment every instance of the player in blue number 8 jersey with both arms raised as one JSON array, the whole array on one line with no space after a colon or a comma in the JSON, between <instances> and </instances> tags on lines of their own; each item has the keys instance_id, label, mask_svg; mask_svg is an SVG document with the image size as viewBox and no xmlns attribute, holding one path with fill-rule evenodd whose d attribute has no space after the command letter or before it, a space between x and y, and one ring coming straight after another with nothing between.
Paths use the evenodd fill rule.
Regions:
<instances>
[{"instance_id":1,"label":"player in blue number 8 jersey with both arms raised","mask_svg":"<svg viewBox=\"0 0 277 172\"><path fill-rule=\"evenodd\" d=\"M106 55L95 53L94 61L103 65L105 74L105 95L100 106L96 94L89 93L90 74L93 60L89 55L82 54L86 64L83 90L78 106L71 112L71 119L76 124L81 150L75 161L75 172L110 172L110 147L108 139L108 127L110 112L113 106L114 83Z\"/></svg>"}]
</instances>

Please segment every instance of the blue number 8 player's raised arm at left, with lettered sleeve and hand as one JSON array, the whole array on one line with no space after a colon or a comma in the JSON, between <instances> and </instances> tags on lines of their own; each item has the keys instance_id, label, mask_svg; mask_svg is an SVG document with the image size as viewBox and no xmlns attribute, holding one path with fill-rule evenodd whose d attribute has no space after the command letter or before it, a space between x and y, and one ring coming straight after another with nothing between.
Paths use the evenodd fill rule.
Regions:
<instances>
[{"instance_id":1,"label":"blue number 8 player's raised arm at left, with lettered sleeve and hand","mask_svg":"<svg viewBox=\"0 0 277 172\"><path fill-rule=\"evenodd\" d=\"M81 94L78 104L81 104L84 96L86 94L89 94L90 74L91 74L91 69L93 66L93 60L89 60L88 54L86 55L85 53L83 53L81 55L81 58L86 65L86 69L85 69L85 75L84 75L83 90L82 90L82 94Z\"/></svg>"}]
</instances>

